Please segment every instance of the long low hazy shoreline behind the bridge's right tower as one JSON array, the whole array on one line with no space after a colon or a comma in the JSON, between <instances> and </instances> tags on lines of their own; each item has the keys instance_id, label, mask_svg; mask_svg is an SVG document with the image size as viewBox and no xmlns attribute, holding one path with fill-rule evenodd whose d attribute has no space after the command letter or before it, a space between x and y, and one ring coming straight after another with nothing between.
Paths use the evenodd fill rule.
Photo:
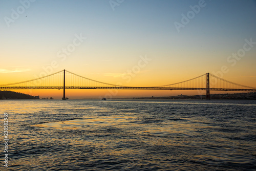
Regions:
<instances>
[{"instance_id":1,"label":"long low hazy shoreline behind the bridge's right tower","mask_svg":"<svg viewBox=\"0 0 256 171\"><path fill-rule=\"evenodd\" d=\"M131 99L131 98L130 98ZM134 97L132 99L206 99L205 95L179 95L168 97ZM252 93L234 93L234 94L210 94L210 99L230 99L230 100L256 100L256 92Z\"/></svg>"}]
</instances>

